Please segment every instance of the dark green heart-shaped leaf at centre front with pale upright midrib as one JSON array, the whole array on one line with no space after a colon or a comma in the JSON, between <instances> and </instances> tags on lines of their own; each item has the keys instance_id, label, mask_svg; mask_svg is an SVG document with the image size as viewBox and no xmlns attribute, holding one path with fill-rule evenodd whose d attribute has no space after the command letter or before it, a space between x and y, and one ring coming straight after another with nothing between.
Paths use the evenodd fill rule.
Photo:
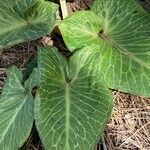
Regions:
<instances>
[{"instance_id":1,"label":"dark green heart-shaped leaf at centre front with pale upright midrib","mask_svg":"<svg viewBox=\"0 0 150 150\"><path fill-rule=\"evenodd\" d=\"M93 150L110 116L110 90L78 55L40 48L36 126L46 150Z\"/></svg>"}]
</instances>

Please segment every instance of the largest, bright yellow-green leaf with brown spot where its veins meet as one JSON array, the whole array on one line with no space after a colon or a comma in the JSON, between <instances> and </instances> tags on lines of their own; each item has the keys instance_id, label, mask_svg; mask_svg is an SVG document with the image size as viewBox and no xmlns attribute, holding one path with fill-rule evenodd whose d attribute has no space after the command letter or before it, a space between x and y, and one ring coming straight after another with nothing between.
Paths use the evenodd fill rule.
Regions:
<instances>
[{"instance_id":1,"label":"largest, bright yellow-green leaf with brown spot where its veins meet","mask_svg":"<svg viewBox=\"0 0 150 150\"><path fill-rule=\"evenodd\" d=\"M92 11L59 24L68 48L84 49L110 88L150 97L149 13L135 0L96 0Z\"/></svg>"}]
</instances>

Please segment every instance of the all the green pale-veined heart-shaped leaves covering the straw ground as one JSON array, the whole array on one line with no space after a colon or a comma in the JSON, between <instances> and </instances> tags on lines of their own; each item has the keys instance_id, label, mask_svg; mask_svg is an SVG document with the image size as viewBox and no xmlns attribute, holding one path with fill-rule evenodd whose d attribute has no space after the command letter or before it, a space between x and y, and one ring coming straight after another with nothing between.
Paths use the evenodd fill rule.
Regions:
<instances>
[{"instance_id":1,"label":"all the green pale-veined heart-shaped leaves covering the straw ground","mask_svg":"<svg viewBox=\"0 0 150 150\"><path fill-rule=\"evenodd\" d=\"M1 0L0 49L49 34L56 10L44 0ZM150 15L136 0L95 0L59 28L70 58L41 47L24 74L6 69L2 150L19 149L34 120L46 150L93 150L112 111L109 88L150 97Z\"/></svg>"}]
</instances>

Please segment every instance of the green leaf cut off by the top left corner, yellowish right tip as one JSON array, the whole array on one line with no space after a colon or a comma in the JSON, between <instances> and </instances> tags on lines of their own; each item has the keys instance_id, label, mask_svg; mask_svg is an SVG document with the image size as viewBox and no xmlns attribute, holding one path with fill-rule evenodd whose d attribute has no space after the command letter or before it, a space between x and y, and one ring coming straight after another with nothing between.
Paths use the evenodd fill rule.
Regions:
<instances>
[{"instance_id":1,"label":"green leaf cut off by the top left corner, yellowish right tip","mask_svg":"<svg viewBox=\"0 0 150 150\"><path fill-rule=\"evenodd\" d=\"M44 0L0 1L0 49L49 34L57 5Z\"/></svg>"}]
</instances>

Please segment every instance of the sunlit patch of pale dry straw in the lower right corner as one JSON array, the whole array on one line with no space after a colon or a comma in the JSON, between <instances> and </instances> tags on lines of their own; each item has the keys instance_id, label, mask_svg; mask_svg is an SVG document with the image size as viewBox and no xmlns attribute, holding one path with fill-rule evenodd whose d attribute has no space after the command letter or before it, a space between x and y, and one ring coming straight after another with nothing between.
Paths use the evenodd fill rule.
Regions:
<instances>
[{"instance_id":1,"label":"sunlit patch of pale dry straw in the lower right corner","mask_svg":"<svg viewBox=\"0 0 150 150\"><path fill-rule=\"evenodd\" d=\"M150 99L114 93L114 109L105 131L107 150L150 150Z\"/></svg>"}]
</instances>

